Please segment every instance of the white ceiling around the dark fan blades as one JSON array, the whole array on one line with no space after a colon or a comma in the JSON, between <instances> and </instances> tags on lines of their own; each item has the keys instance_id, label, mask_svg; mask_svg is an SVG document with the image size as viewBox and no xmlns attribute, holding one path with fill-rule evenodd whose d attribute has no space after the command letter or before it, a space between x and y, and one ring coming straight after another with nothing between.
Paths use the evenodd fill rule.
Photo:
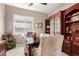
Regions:
<instances>
[{"instance_id":1,"label":"white ceiling around the dark fan blades","mask_svg":"<svg viewBox=\"0 0 79 59\"><path fill-rule=\"evenodd\" d=\"M7 3L6 5L42 12L46 14L51 13L53 10L55 10L55 8L59 7L60 5L63 5L63 3L47 3L47 5L34 3L32 6L29 6L29 4L30 3Z\"/></svg>"}]
</instances>

